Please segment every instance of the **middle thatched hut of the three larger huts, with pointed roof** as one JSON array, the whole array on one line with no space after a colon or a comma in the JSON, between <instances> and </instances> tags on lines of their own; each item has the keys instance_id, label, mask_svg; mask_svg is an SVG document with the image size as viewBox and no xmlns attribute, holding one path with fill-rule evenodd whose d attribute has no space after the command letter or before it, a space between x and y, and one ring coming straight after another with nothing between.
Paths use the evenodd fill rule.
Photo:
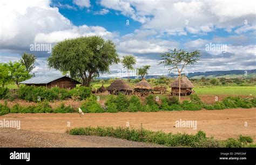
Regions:
<instances>
[{"instance_id":1,"label":"middle thatched hut of the three larger huts, with pointed roof","mask_svg":"<svg viewBox=\"0 0 256 165\"><path fill-rule=\"evenodd\" d=\"M143 78L142 81L134 85L134 94L140 97L144 97L152 93L151 85Z\"/></svg>"}]
</instances>

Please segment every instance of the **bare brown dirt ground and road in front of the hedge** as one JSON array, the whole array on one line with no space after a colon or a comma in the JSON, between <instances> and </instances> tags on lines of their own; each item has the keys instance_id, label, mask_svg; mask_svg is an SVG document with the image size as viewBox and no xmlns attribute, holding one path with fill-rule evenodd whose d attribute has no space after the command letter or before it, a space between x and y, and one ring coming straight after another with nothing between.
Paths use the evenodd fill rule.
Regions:
<instances>
[{"instance_id":1,"label":"bare brown dirt ground and road in front of the hedge","mask_svg":"<svg viewBox=\"0 0 256 165\"><path fill-rule=\"evenodd\" d=\"M87 126L126 126L139 128L141 125L152 131L197 133L199 130L206 132L208 137L216 139L237 138L240 134L248 135L256 140L255 112L252 109L226 109L226 110L201 110L201 111L174 111L174 112L118 112L118 113L86 113L79 117L78 113L36 113L36 114L6 114L1 119L21 120L21 130L13 128L0 128L0 146L11 146L13 141L18 141L14 146L37 147L150 147L152 145L120 141L107 137L74 137L64 132L73 127ZM197 130L192 128L177 128L176 120L197 120ZM70 122L70 127L67 123ZM247 122L247 127L245 126ZM6 141L9 139L9 142ZM28 139L39 139L42 145ZM47 141L52 141L49 142Z\"/></svg>"}]
</instances>

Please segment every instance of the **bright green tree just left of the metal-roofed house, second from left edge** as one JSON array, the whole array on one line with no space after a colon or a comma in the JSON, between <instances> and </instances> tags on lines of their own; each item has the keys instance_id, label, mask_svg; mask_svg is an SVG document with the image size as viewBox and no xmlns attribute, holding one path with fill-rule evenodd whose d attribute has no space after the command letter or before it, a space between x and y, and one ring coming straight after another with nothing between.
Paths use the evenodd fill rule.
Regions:
<instances>
[{"instance_id":1,"label":"bright green tree just left of the metal-roofed house, second from left edge","mask_svg":"<svg viewBox=\"0 0 256 165\"><path fill-rule=\"evenodd\" d=\"M11 79L16 83L19 88L19 82L27 80L31 77L29 71L26 70L26 67L21 63L21 61L9 62Z\"/></svg>"}]
</instances>

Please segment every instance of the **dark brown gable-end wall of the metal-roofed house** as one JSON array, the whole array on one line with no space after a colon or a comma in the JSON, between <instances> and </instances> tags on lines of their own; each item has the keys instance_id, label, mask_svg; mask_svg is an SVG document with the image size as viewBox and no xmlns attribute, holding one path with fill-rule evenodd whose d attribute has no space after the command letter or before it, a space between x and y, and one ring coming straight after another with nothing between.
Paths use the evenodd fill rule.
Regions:
<instances>
[{"instance_id":1,"label":"dark brown gable-end wall of the metal-roofed house","mask_svg":"<svg viewBox=\"0 0 256 165\"><path fill-rule=\"evenodd\" d=\"M70 78L63 77L48 83L47 87L48 88L59 87L59 88L72 89L76 87L76 84L77 84L76 81L71 81Z\"/></svg>"}]
</instances>

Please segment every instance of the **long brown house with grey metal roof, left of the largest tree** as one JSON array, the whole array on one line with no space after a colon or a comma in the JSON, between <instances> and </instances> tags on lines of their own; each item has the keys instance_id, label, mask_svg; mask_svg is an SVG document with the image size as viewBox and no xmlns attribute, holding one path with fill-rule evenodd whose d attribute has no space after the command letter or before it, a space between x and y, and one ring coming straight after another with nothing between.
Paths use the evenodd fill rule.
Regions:
<instances>
[{"instance_id":1,"label":"long brown house with grey metal roof, left of the largest tree","mask_svg":"<svg viewBox=\"0 0 256 165\"><path fill-rule=\"evenodd\" d=\"M75 88L77 84L80 84L80 82L63 75L49 75L32 77L29 80L20 82L20 84L32 85L34 87L59 87L72 89Z\"/></svg>"}]
</instances>

